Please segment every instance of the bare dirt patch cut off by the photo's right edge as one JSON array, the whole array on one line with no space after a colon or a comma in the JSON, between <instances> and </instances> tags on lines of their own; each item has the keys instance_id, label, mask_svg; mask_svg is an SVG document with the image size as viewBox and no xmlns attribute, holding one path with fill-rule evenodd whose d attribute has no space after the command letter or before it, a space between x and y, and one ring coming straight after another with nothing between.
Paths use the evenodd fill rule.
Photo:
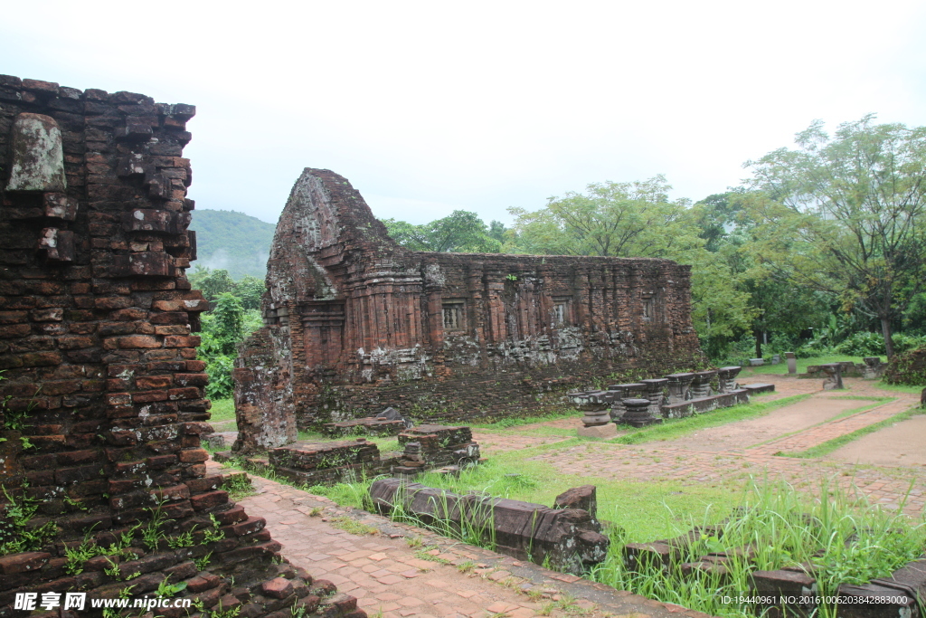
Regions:
<instances>
[{"instance_id":1,"label":"bare dirt patch cut off by the photo's right edge","mask_svg":"<svg viewBox=\"0 0 926 618\"><path fill-rule=\"evenodd\" d=\"M926 416L914 416L837 448L827 460L876 466L926 466Z\"/></svg>"}]
</instances>

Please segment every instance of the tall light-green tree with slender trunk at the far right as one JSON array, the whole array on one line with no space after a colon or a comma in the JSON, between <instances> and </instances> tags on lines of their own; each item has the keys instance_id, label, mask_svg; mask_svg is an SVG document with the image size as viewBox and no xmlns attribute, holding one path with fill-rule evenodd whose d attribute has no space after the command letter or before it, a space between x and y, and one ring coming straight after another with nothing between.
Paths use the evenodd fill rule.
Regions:
<instances>
[{"instance_id":1,"label":"tall light-green tree with slender trunk at the far right","mask_svg":"<svg viewBox=\"0 0 926 618\"><path fill-rule=\"evenodd\" d=\"M782 148L749 161L761 222L759 255L783 278L838 296L876 317L888 357L892 322L926 277L926 127L815 121Z\"/></svg>"}]
</instances>

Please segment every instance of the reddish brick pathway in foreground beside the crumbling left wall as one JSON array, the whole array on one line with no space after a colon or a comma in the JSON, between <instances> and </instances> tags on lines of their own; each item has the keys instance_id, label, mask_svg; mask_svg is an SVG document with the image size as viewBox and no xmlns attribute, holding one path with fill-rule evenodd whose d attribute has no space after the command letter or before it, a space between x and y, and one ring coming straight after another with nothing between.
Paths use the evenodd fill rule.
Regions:
<instances>
[{"instance_id":1,"label":"reddish brick pathway in foreground beside the crumbling left wall","mask_svg":"<svg viewBox=\"0 0 926 618\"><path fill-rule=\"evenodd\" d=\"M214 462L209 467L210 473L220 472ZM294 566L357 597L358 606L371 617L706 618L379 515L343 509L292 486L256 476L252 481L257 495L238 503L267 519L267 528ZM373 534L336 527L345 520Z\"/></svg>"}]
</instances>

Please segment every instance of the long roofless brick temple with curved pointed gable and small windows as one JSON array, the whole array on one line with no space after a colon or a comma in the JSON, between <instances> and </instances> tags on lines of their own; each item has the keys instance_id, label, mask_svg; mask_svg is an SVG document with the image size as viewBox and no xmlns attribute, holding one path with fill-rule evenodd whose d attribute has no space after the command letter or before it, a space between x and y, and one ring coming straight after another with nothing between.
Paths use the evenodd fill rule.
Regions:
<instances>
[{"instance_id":1,"label":"long roofless brick temple with curved pointed gable and small windows","mask_svg":"<svg viewBox=\"0 0 926 618\"><path fill-rule=\"evenodd\" d=\"M689 274L668 259L411 251L342 176L307 169L270 249L265 326L236 361L235 449L387 407L457 422L691 369Z\"/></svg>"}]
</instances>

